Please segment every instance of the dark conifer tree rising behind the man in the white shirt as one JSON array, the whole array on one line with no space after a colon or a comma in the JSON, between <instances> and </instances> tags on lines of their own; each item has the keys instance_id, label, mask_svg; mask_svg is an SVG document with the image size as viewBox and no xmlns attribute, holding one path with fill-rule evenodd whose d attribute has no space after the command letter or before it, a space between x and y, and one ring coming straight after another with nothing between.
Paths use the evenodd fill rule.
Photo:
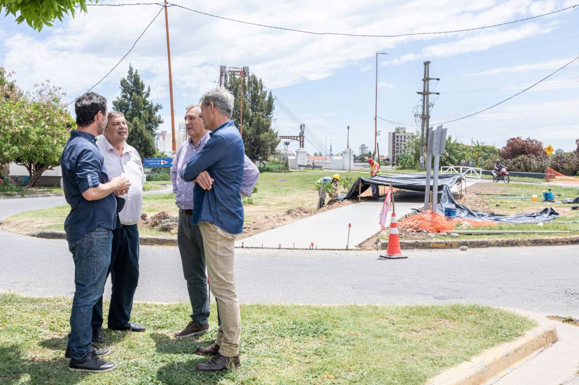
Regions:
<instances>
[{"instance_id":1,"label":"dark conifer tree rising behind the man in the white shirt","mask_svg":"<svg viewBox=\"0 0 579 385\"><path fill-rule=\"evenodd\" d=\"M151 86L147 86L145 90L145 83L142 82L139 72L129 64L127 77L120 79L120 95L112 105L116 111L124 114L129 124L127 143L135 147L143 158L155 156L155 134L157 127L163 123L163 118L158 114L163 106L150 101L150 96ZM138 122L135 123L135 119L138 119ZM136 131L131 132L131 127L136 127Z\"/></svg>"}]
</instances>

